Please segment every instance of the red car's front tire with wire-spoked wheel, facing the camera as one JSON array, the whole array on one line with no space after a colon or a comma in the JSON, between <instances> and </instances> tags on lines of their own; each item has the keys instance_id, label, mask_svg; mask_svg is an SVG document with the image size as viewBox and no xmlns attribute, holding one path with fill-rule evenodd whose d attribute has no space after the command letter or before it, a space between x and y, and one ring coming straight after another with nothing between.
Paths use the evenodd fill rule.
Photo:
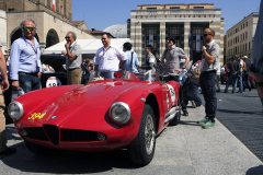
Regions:
<instances>
[{"instance_id":1,"label":"red car's front tire with wire-spoked wheel, facing the camera","mask_svg":"<svg viewBox=\"0 0 263 175\"><path fill-rule=\"evenodd\" d=\"M155 114L150 105L146 104L141 115L139 132L128 145L132 162L147 165L151 162L156 150L156 122Z\"/></svg>"}]
</instances>

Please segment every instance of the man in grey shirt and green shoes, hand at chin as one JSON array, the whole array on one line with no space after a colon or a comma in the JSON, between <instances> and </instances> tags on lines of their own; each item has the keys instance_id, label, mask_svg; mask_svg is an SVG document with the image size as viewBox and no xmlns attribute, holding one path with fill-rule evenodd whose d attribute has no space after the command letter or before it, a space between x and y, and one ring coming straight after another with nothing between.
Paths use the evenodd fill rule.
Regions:
<instances>
[{"instance_id":1,"label":"man in grey shirt and green shoes, hand at chin","mask_svg":"<svg viewBox=\"0 0 263 175\"><path fill-rule=\"evenodd\" d=\"M204 119L198 120L197 124L203 124L203 128L210 128L215 126L215 117L217 109L216 98L216 79L217 69L220 62L220 47L214 40L215 31L213 28L206 28L203 37L205 45L202 48L202 63L201 63L201 77L198 83L202 88L202 92L205 98L205 112Z\"/></svg>"}]
</instances>

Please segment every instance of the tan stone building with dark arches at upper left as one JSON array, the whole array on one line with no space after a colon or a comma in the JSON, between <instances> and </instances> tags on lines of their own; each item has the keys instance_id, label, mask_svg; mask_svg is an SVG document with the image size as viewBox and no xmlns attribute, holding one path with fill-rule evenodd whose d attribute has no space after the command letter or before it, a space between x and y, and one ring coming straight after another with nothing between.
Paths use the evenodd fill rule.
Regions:
<instances>
[{"instance_id":1,"label":"tan stone building with dark arches at upper left","mask_svg":"<svg viewBox=\"0 0 263 175\"><path fill-rule=\"evenodd\" d=\"M7 47L22 36L20 24L30 19L37 23L36 38L41 49L65 40L68 31L77 34L77 38L93 39L94 37L72 24L71 0L0 0L0 9L7 12ZM84 27L84 28L88 28Z\"/></svg>"}]
</instances>

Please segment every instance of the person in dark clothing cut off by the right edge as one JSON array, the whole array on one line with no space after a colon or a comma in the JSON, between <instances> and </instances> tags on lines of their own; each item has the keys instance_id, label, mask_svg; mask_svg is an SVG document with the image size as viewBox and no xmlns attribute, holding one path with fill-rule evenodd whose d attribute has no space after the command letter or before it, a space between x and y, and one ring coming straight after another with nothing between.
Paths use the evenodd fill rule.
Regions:
<instances>
[{"instance_id":1,"label":"person in dark clothing cut off by the right edge","mask_svg":"<svg viewBox=\"0 0 263 175\"><path fill-rule=\"evenodd\" d=\"M253 42L253 65L251 66L251 72L255 79L256 91L262 103L261 114L263 114L263 0L261 0L259 15Z\"/></svg>"}]
</instances>

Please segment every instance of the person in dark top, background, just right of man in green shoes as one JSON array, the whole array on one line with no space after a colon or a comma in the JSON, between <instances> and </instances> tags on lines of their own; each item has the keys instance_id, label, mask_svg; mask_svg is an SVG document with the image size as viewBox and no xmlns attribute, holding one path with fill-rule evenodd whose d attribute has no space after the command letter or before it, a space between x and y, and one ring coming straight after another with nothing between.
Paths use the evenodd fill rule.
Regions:
<instances>
[{"instance_id":1,"label":"person in dark top, background, just right of man in green shoes","mask_svg":"<svg viewBox=\"0 0 263 175\"><path fill-rule=\"evenodd\" d=\"M232 93L235 93L237 88L237 80L238 80L238 70L239 70L239 63L236 61L237 56L233 56L231 58L232 61L229 61L227 65L227 68L229 69L229 78L226 84L225 93L228 92L228 88L230 83L232 83Z\"/></svg>"}]
</instances>

